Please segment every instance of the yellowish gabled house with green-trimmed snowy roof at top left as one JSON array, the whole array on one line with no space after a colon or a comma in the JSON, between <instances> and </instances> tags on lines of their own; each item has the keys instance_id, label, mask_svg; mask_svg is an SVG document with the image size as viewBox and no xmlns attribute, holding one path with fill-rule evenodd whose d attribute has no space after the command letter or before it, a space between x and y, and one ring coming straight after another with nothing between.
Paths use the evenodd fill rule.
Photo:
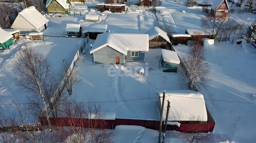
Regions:
<instances>
[{"instance_id":1,"label":"yellowish gabled house with green-trimmed snowy roof at top left","mask_svg":"<svg viewBox=\"0 0 256 143\"><path fill-rule=\"evenodd\" d=\"M70 11L69 0L47 0L46 10L48 13L68 14Z\"/></svg>"}]
</instances>

